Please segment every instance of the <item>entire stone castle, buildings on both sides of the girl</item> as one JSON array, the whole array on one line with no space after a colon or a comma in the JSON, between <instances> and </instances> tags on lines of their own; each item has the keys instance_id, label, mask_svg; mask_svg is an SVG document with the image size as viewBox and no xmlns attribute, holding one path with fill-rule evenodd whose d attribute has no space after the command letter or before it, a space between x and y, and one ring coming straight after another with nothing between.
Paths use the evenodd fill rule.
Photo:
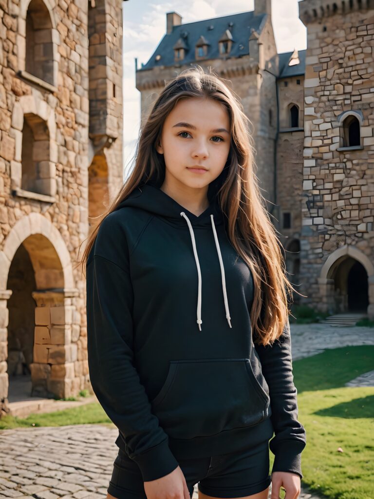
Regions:
<instances>
[{"instance_id":1,"label":"entire stone castle, buildings on both sides of the girl","mask_svg":"<svg viewBox=\"0 0 374 499\"><path fill-rule=\"evenodd\" d=\"M22 390L62 398L89 388L75 262L123 182L121 8L0 0L0 414ZM307 50L281 54L270 0L188 24L168 13L136 72L142 114L196 63L230 80L302 302L373 318L373 0L299 8Z\"/></svg>"}]
</instances>

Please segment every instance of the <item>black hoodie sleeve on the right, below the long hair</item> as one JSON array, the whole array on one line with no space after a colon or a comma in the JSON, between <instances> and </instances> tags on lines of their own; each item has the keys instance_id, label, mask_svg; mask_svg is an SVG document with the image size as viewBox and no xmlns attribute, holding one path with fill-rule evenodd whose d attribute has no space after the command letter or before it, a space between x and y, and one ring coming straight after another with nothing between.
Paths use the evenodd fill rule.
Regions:
<instances>
[{"instance_id":1,"label":"black hoodie sleeve on the right, below the long hair","mask_svg":"<svg viewBox=\"0 0 374 499\"><path fill-rule=\"evenodd\" d=\"M306 432L298 421L297 389L294 385L291 357L290 323L287 323L282 335L273 345L255 344L255 350L261 361L262 373L269 386L270 416L275 436L269 447L275 455L272 473L301 471L301 453L306 446Z\"/></svg>"}]
</instances>

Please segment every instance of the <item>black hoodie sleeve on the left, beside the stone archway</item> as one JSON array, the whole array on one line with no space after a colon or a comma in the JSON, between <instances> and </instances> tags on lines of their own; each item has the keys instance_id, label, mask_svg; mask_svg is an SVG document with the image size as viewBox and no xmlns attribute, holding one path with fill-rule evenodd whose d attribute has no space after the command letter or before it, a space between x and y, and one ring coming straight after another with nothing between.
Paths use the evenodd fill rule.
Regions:
<instances>
[{"instance_id":1,"label":"black hoodie sleeve on the left, beside the stone archway","mask_svg":"<svg viewBox=\"0 0 374 499\"><path fill-rule=\"evenodd\" d=\"M111 214L112 215L112 214ZM86 266L87 351L92 388L118 428L143 481L168 475L179 463L133 365L133 288L129 250L116 216L102 222Z\"/></svg>"}]
</instances>

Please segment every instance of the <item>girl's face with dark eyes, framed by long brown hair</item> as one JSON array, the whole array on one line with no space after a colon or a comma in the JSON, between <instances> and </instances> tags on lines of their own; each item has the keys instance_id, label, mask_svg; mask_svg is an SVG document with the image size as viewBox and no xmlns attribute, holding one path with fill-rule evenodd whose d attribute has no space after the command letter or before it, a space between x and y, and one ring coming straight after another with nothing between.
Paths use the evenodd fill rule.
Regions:
<instances>
[{"instance_id":1,"label":"girl's face with dark eyes, framed by long brown hair","mask_svg":"<svg viewBox=\"0 0 374 499\"><path fill-rule=\"evenodd\" d=\"M164 122L156 150L164 155L167 184L207 187L223 170L230 151L227 109L210 98L180 100Z\"/></svg>"}]
</instances>

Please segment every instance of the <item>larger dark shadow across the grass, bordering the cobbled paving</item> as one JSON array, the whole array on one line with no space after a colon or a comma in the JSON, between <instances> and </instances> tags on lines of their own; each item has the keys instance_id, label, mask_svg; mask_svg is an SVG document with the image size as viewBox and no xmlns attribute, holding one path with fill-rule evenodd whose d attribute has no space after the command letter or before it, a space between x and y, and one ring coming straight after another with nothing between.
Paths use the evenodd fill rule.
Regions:
<instances>
[{"instance_id":1,"label":"larger dark shadow across the grass, bordering the cobbled paving","mask_svg":"<svg viewBox=\"0 0 374 499\"><path fill-rule=\"evenodd\" d=\"M374 370L374 345L328 349L295 360L292 365L298 393L341 388L357 376Z\"/></svg>"}]
</instances>

